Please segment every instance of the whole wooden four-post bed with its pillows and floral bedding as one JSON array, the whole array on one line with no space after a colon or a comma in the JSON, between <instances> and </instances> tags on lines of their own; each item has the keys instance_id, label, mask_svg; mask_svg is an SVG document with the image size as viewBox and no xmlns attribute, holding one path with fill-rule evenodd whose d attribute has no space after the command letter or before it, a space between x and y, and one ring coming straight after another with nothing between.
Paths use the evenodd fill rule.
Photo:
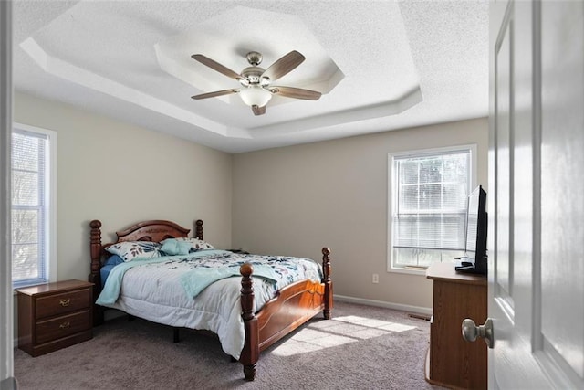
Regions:
<instances>
[{"instance_id":1,"label":"whole wooden four-post bed with its pillows and floral bedding","mask_svg":"<svg viewBox=\"0 0 584 390\"><path fill-rule=\"evenodd\" d=\"M312 260L306 258L277 257L274 260L276 257L213 248L203 240L202 220L195 221L193 237L189 237L190 229L172 221L149 220L116 232L116 242L106 244L101 243L101 222L93 220L89 227L89 281L94 283L93 296L98 297L94 304L95 325L103 323L106 309L113 308L170 325L176 330L190 328L214 332L225 353L243 364L245 379L253 381L260 352L319 312L325 319L331 316L333 301L328 248L322 248L322 264L317 263L317 277L309 263ZM163 258L143 258L144 253L141 253L131 261L118 259L116 250L120 248L136 245L145 248L151 243L155 243L156 248L172 248L177 252L162 251ZM191 245L188 254L184 253L184 243ZM196 243L196 248L193 243ZM200 247L200 243L203 246ZM134 256L133 250L135 248L132 248L131 256ZM116 261L112 263L114 258ZM274 261L277 267L266 265L272 265ZM208 263L213 266L207 266ZM215 266L217 263L220 265ZM224 267L225 264L228 267ZM208 267L219 268L202 269ZM186 270L179 272L179 268ZM234 277L235 269L237 277ZM300 269L305 273L291 276L289 269ZM211 277L207 280L208 276L217 273L221 274L219 279ZM201 289L199 286L193 291L193 285L199 285L203 279L209 283L208 287ZM178 285L183 286L182 292ZM147 290L145 286L153 290L144 292ZM183 293L184 290L188 293ZM214 298L217 294L222 297L220 303ZM233 298L232 294L235 294ZM209 315L213 317L202 318L207 314L201 316L197 313L212 313ZM176 338L177 332L175 341ZM241 350L238 352L239 346Z\"/></svg>"}]
</instances>

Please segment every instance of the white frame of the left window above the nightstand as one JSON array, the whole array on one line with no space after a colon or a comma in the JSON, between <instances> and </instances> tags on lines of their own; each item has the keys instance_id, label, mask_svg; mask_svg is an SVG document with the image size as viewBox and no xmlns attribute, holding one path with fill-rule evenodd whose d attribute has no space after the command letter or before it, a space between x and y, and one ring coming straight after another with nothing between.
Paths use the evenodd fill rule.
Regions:
<instances>
[{"instance_id":1,"label":"white frame of the left window above the nightstand","mask_svg":"<svg viewBox=\"0 0 584 390\"><path fill-rule=\"evenodd\" d=\"M11 276L11 282L13 289L20 289L27 286L34 286L38 284L44 284L48 282L57 281L57 132L48 130L45 128L40 128L36 126L31 126L23 123L13 122L12 133L16 131L22 132L32 132L37 134L43 134L47 137L47 161L45 166L46 175L48 175L48 180L45 180L45 198L47 205L47 215L45 216L45 256L46 256L46 272L44 275L45 281L24 281L15 283ZM12 137L11 137L12 139ZM10 167L10 174L12 177L12 166ZM12 195L11 195L12 197ZM12 202L10 204L10 213L12 216ZM12 226L12 224L11 224ZM11 240L11 246L14 245ZM14 259L13 259L14 261Z\"/></svg>"}]
</instances>

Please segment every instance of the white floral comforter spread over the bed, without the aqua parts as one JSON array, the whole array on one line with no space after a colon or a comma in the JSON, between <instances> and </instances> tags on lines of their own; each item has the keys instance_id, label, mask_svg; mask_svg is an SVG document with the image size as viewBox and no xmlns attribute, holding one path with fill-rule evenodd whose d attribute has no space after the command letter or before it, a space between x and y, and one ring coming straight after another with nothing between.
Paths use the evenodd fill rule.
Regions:
<instances>
[{"instance_id":1,"label":"white floral comforter spread over the bed, without the aqua parts","mask_svg":"<svg viewBox=\"0 0 584 390\"><path fill-rule=\"evenodd\" d=\"M121 280L120 295L114 303L100 303L143 319L166 325L216 333L222 348L239 359L244 347L245 330L241 318L241 277L215 281L191 299L182 285L182 275L196 267L232 266L250 262L270 265L277 282L254 278L255 311L275 297L276 290L300 279L318 281L322 270L318 263L308 258L282 258L255 255L238 255L226 251L203 258L181 259L147 263L126 270ZM223 252L223 253L221 253ZM107 283L110 281L106 281Z\"/></svg>"}]
</instances>

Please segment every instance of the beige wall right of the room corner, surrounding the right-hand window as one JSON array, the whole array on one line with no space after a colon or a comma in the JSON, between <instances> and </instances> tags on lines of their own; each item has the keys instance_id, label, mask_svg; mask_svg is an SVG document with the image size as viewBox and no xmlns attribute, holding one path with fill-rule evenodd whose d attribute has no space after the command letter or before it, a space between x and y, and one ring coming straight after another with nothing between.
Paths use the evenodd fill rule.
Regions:
<instances>
[{"instance_id":1,"label":"beige wall right of the room corner, surrounding the right-hand window","mask_svg":"<svg viewBox=\"0 0 584 390\"><path fill-rule=\"evenodd\" d=\"M387 272L388 153L469 143L486 186L486 119L235 154L234 247L320 258L328 246L335 295L431 308L423 275Z\"/></svg>"}]
</instances>

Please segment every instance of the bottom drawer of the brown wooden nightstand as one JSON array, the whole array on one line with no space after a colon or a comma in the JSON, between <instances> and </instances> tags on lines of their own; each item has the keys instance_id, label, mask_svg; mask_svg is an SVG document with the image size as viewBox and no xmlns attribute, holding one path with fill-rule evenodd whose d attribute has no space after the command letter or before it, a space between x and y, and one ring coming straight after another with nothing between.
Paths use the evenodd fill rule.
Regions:
<instances>
[{"instance_id":1,"label":"bottom drawer of the brown wooden nightstand","mask_svg":"<svg viewBox=\"0 0 584 390\"><path fill-rule=\"evenodd\" d=\"M36 322L36 343L47 343L66 337L69 334L87 331L91 329L91 316L89 309L68 314L47 321Z\"/></svg>"}]
</instances>

